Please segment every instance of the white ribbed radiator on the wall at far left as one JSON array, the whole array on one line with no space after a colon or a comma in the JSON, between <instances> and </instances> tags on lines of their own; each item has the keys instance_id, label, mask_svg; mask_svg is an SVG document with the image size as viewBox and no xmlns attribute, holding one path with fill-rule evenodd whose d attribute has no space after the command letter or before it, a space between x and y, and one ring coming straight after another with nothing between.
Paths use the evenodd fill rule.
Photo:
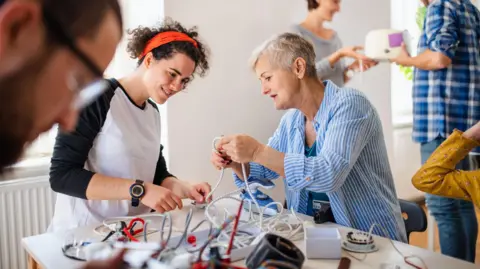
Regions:
<instances>
[{"instance_id":1,"label":"white ribbed radiator on the wall at far left","mask_svg":"<svg viewBox=\"0 0 480 269\"><path fill-rule=\"evenodd\" d=\"M46 231L54 203L48 176L0 181L0 269L27 268L21 239Z\"/></svg>"}]
</instances>

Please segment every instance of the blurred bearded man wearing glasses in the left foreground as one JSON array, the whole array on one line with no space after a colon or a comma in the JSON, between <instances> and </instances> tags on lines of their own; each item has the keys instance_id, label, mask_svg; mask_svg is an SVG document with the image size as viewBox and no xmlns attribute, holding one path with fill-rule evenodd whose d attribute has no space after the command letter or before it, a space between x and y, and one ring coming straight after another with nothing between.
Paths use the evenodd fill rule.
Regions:
<instances>
[{"instance_id":1,"label":"blurred bearded man wearing glasses in the left foreground","mask_svg":"<svg viewBox=\"0 0 480 269\"><path fill-rule=\"evenodd\" d=\"M117 0L0 0L0 173L54 124L73 130L108 87L103 71L121 36Z\"/></svg>"}]
</instances>

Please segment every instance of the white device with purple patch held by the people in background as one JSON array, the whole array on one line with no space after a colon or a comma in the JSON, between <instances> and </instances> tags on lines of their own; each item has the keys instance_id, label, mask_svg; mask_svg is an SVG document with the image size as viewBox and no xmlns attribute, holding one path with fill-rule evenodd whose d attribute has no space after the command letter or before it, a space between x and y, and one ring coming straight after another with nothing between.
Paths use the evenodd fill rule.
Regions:
<instances>
[{"instance_id":1,"label":"white device with purple patch held by the people in background","mask_svg":"<svg viewBox=\"0 0 480 269\"><path fill-rule=\"evenodd\" d=\"M411 37L406 30L379 29L370 31L365 37L365 56L376 61L388 61L400 54L402 43L411 53Z\"/></svg>"}]
</instances>

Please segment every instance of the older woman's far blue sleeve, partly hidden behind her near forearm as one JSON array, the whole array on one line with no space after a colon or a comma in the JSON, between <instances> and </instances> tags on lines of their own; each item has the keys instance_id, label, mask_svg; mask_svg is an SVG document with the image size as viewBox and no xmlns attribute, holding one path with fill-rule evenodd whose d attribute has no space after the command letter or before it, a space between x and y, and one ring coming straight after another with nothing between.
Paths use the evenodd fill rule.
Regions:
<instances>
[{"instance_id":1,"label":"older woman's far blue sleeve, partly hidden behind her near forearm","mask_svg":"<svg viewBox=\"0 0 480 269\"><path fill-rule=\"evenodd\" d=\"M283 116L282 120L280 121L280 124L277 127L277 130L275 130L275 133L273 134L272 137L268 140L267 145L277 151L281 151L280 145L283 144L282 139L286 139L286 116ZM250 164L250 174L248 175L248 180L252 178L256 179L277 179L280 177L280 175L268 168L266 168L263 165L260 165L258 163L249 163ZM244 181L241 180L237 174L233 173L233 178L235 179L235 185L237 187L243 187L245 185Z\"/></svg>"}]
</instances>

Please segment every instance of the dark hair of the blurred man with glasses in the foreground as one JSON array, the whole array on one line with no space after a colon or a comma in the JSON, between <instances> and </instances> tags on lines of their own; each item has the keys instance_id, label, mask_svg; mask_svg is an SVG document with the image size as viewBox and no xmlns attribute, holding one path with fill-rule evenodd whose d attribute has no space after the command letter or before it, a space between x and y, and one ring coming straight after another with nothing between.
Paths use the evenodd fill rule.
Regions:
<instances>
[{"instance_id":1,"label":"dark hair of the blurred man with glasses in the foreground","mask_svg":"<svg viewBox=\"0 0 480 269\"><path fill-rule=\"evenodd\" d=\"M123 29L118 0L43 0L42 5L76 38L94 35L108 10L115 13Z\"/></svg>"}]
</instances>

